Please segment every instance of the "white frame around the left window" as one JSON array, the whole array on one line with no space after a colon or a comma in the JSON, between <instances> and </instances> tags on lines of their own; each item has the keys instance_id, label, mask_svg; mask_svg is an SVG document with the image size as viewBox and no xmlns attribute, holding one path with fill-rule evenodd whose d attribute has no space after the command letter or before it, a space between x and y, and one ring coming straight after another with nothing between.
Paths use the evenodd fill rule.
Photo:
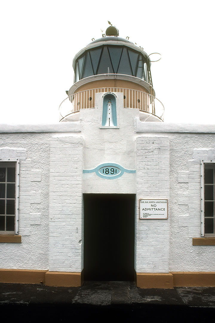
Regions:
<instances>
[{"instance_id":1,"label":"white frame around the left window","mask_svg":"<svg viewBox=\"0 0 215 323\"><path fill-rule=\"evenodd\" d=\"M16 165L16 184L15 184L15 231L0 231L0 234L19 234L19 165L20 161L18 158L0 158L1 162L15 162Z\"/></svg>"}]
</instances>

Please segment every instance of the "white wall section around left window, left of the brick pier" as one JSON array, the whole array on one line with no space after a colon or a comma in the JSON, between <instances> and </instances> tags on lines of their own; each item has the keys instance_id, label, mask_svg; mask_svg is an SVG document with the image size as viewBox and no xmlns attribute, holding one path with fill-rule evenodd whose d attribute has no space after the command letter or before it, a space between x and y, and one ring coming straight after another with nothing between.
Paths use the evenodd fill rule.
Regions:
<instances>
[{"instance_id":1,"label":"white wall section around left window, left of the brick pier","mask_svg":"<svg viewBox=\"0 0 215 323\"><path fill-rule=\"evenodd\" d=\"M0 134L0 159L20 160L19 234L22 236L21 244L1 243L0 268L48 269L48 137L47 134Z\"/></svg>"}]
</instances>

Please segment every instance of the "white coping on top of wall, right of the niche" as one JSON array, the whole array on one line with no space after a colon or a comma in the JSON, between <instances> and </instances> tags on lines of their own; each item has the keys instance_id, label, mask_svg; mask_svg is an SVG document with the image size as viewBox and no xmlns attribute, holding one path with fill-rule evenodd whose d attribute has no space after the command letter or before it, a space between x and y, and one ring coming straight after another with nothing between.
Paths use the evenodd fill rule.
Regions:
<instances>
[{"instance_id":1,"label":"white coping on top of wall, right of the niche","mask_svg":"<svg viewBox=\"0 0 215 323\"><path fill-rule=\"evenodd\" d=\"M135 118L134 130L139 133L215 133L215 124L144 122Z\"/></svg>"}]
</instances>

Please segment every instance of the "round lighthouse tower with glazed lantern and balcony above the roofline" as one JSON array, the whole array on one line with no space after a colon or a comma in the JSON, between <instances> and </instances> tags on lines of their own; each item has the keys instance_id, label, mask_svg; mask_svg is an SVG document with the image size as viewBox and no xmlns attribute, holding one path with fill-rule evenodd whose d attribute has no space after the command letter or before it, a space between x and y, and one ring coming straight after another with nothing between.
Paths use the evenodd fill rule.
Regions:
<instances>
[{"instance_id":1,"label":"round lighthouse tower with glazed lantern and balcony above the roofline","mask_svg":"<svg viewBox=\"0 0 215 323\"><path fill-rule=\"evenodd\" d=\"M60 121L79 120L81 109L97 108L96 93L114 92L123 93L123 108L138 109L141 121L162 122L164 108L155 98L150 66L143 48L119 37L118 29L109 26L102 38L93 40L74 57L74 84L60 105Z\"/></svg>"}]
</instances>

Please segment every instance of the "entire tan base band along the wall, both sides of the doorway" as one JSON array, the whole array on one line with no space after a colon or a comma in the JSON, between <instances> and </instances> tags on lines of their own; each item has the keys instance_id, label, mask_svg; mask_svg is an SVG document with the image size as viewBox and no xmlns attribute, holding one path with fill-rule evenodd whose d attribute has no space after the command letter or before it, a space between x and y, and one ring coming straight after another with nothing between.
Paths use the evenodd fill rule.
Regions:
<instances>
[{"instance_id":1,"label":"entire tan base band along the wall, both sides of the doorway","mask_svg":"<svg viewBox=\"0 0 215 323\"><path fill-rule=\"evenodd\" d=\"M135 276L137 287L140 288L215 287L215 272L136 273ZM79 287L83 284L83 272L0 269L0 282Z\"/></svg>"}]
</instances>

